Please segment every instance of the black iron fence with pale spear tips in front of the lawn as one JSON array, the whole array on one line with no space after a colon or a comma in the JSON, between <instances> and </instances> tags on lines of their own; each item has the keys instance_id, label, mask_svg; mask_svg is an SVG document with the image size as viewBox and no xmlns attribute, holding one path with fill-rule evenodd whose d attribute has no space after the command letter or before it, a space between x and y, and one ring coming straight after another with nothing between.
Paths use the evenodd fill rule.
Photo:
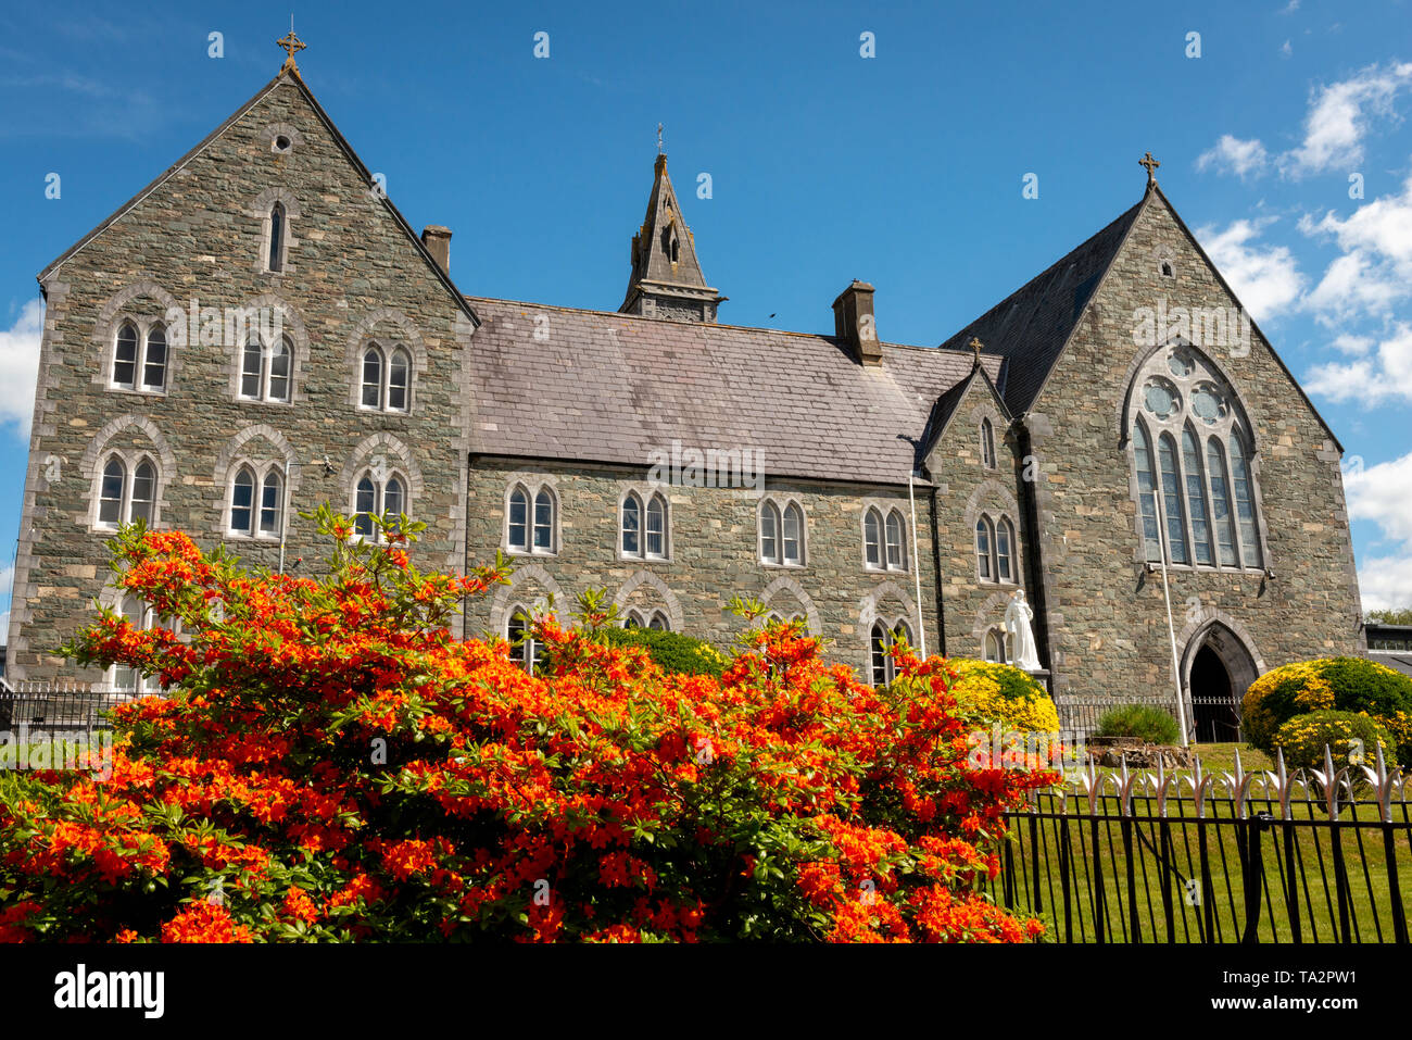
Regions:
<instances>
[{"instance_id":1,"label":"black iron fence with pale spear tips in front of the lawn","mask_svg":"<svg viewBox=\"0 0 1412 1040\"><path fill-rule=\"evenodd\" d=\"M1065 942L1408 942L1394 769L1113 773L1008 815L991 893Z\"/></svg>"}]
</instances>

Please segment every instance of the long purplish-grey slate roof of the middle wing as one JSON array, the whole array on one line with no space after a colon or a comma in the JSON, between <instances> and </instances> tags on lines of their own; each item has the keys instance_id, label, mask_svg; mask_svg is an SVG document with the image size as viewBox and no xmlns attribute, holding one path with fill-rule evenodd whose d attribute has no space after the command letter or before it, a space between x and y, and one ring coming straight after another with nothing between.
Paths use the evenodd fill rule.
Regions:
<instances>
[{"instance_id":1,"label":"long purplish-grey slate roof of the middle wing","mask_svg":"<svg viewBox=\"0 0 1412 1040\"><path fill-rule=\"evenodd\" d=\"M772 476L907 483L933 406L970 350L882 343L858 365L833 336L469 297L473 451L648 466L648 452L757 448ZM535 318L548 332L535 339ZM1001 358L987 356L993 380Z\"/></svg>"}]
</instances>

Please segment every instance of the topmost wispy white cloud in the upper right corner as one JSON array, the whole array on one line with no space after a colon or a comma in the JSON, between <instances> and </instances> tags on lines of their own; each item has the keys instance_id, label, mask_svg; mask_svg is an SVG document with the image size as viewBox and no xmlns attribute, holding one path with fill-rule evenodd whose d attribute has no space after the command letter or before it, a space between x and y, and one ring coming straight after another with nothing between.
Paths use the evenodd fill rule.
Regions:
<instances>
[{"instance_id":1,"label":"topmost wispy white cloud in the upper right corner","mask_svg":"<svg viewBox=\"0 0 1412 1040\"><path fill-rule=\"evenodd\" d=\"M1299 178L1329 170L1353 171L1363 162L1363 140L1375 119L1395 119L1394 99L1412 86L1412 62L1370 65L1337 83L1319 88L1305 116L1305 140L1281 157Z\"/></svg>"}]
</instances>

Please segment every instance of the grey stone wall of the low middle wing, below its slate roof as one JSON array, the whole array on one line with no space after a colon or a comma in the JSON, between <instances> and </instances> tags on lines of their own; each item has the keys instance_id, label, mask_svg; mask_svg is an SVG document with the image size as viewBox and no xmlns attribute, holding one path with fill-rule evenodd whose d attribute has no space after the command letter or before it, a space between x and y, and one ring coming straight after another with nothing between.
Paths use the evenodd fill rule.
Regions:
<instances>
[{"instance_id":1,"label":"grey stone wall of the low middle wing, below its slate roof","mask_svg":"<svg viewBox=\"0 0 1412 1040\"><path fill-rule=\"evenodd\" d=\"M618 509L624 493L645 490L645 468L531 463L476 459L470 468L467 567L507 548L505 500L522 483L546 486L559 507L554 554L515 557L511 586L472 601L466 633L504 634L514 606L532 608L554 598L568 619L583 589L607 589L620 609L662 609L674 627L730 647L744 622L726 609L733 595L765 601L781 615L803 615L816 634L830 640L830 658L856 668L867 664L868 632L875 619L905 619L914 643L919 634L915 574L922 572L922 625L928 649L936 647L935 569L932 564L929 489L916 489L918 540L907 571L864 568L863 509L898 507L909 520L907 488L830 486L818 482L765 480L762 495L798 502L805 513L803 567L760 562L761 495L748 489L669 488L669 550L665 561L624 560L618 552ZM681 619L681 625L676 623Z\"/></svg>"}]
</instances>

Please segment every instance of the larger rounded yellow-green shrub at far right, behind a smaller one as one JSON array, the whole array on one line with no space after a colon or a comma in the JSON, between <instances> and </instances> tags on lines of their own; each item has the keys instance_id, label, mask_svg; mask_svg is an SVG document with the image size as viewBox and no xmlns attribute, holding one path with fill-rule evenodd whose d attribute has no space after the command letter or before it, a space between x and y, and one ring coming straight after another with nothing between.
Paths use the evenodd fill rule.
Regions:
<instances>
[{"instance_id":1,"label":"larger rounded yellow-green shrub at far right, behind a smaller one","mask_svg":"<svg viewBox=\"0 0 1412 1040\"><path fill-rule=\"evenodd\" d=\"M1412 766L1412 678L1364 657L1320 657L1267 671L1241 705L1245 739L1274 753L1279 728L1313 711L1364 712L1392 738L1396 759Z\"/></svg>"}]
</instances>

